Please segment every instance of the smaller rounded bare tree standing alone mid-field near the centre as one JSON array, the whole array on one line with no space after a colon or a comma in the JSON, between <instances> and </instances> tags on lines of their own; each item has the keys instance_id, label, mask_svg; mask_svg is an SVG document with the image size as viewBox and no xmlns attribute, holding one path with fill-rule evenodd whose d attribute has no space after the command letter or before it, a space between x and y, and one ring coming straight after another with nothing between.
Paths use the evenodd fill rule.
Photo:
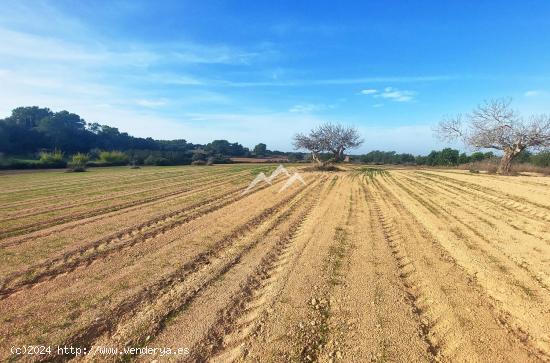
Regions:
<instances>
[{"instance_id":1,"label":"smaller rounded bare tree standing alone mid-field near the centre","mask_svg":"<svg viewBox=\"0 0 550 363\"><path fill-rule=\"evenodd\" d=\"M333 161L341 161L344 151L359 147L363 140L357 129L339 124L325 123L310 131L309 135L294 135L294 147L306 149L318 164L322 164L319 154L326 151L333 154Z\"/></svg>"}]
</instances>

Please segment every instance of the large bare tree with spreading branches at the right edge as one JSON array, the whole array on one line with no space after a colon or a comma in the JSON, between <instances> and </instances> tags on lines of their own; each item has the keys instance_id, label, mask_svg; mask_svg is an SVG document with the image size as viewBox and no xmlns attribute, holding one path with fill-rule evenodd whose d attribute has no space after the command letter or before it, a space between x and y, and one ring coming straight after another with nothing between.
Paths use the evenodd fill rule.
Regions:
<instances>
[{"instance_id":1,"label":"large bare tree with spreading branches at the right edge","mask_svg":"<svg viewBox=\"0 0 550 363\"><path fill-rule=\"evenodd\" d=\"M474 149L503 152L499 174L509 174L512 161L525 149L550 146L550 117L532 115L527 120L510 107L509 99L485 101L465 117L445 118L436 133L442 140L461 139Z\"/></svg>"}]
</instances>

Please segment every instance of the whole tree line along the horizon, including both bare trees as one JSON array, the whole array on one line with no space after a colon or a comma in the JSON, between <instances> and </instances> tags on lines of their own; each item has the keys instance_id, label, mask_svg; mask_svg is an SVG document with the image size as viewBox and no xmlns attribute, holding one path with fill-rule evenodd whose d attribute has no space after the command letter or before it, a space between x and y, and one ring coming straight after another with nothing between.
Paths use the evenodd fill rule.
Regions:
<instances>
[{"instance_id":1,"label":"whole tree line along the horizon, including both bare trees","mask_svg":"<svg viewBox=\"0 0 550 363\"><path fill-rule=\"evenodd\" d=\"M440 133L447 135L458 130L468 135L465 137L469 145L494 146L496 149L504 150L504 158L496 156L493 152L477 151L467 155L456 149L445 148L440 151L434 150L428 155L416 156L408 153L399 154L395 151L374 150L364 155L354 155L352 160L369 164L456 166L490 159L497 162L506 159L505 162L509 163L511 157L514 162L550 166L550 152L542 151L533 154L529 151L529 147L548 145L550 139L546 133L547 119L538 118L532 121L529 127L525 125L520 127L518 125L522 124L518 123L520 121L517 119L514 118L512 120L514 122L510 121L513 113L509 110L509 104L503 101L485 104L475 112L477 113L469 116L470 122L475 126L471 126L467 131L460 131L461 123L453 119L440 124ZM489 121L485 121L485 124L481 122L487 119ZM497 123L495 119L501 120L501 123ZM510 121L509 125L501 125L505 120ZM491 122L500 125L497 125L498 127L493 125L498 131L493 131L497 133L496 136L493 133L485 133L483 138L476 136L476 127L485 127L483 125ZM506 130L511 127L516 128L515 133L506 133ZM522 138L522 135L527 136ZM481 143L480 139L487 141L486 139L490 136L495 138L494 145ZM513 136L518 138L517 142L520 142L520 145L516 146L521 148L520 151L514 149L516 151L512 152L513 148L507 146L515 140ZM498 140L503 144L501 148L497 145ZM271 156L286 156L289 161L311 158L322 164L342 161L347 149L357 148L363 142L356 129L330 123L312 129L309 134L296 134L293 141L296 149L308 150L310 154L271 151L264 143L258 143L250 150L237 142L227 140L193 144L184 139L140 138L120 132L116 127L87 123L79 115L68 111L53 112L48 108L36 106L18 107L9 117L0 119L0 167L63 167L72 155L76 156L73 163L86 163L92 166L129 163L136 165L227 163L230 162L230 157ZM512 154L506 154L506 152L512 152Z\"/></svg>"}]
</instances>

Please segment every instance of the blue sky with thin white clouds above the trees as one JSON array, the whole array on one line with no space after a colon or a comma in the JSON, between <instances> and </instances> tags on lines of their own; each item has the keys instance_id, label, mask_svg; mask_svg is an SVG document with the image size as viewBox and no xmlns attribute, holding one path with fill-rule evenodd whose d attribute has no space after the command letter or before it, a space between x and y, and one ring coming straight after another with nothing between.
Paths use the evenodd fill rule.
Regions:
<instances>
[{"instance_id":1,"label":"blue sky with thin white clouds above the trees","mask_svg":"<svg viewBox=\"0 0 550 363\"><path fill-rule=\"evenodd\" d=\"M442 147L484 99L550 112L548 1L1 1L0 117L76 112L137 136L265 142L324 121Z\"/></svg>"}]
</instances>

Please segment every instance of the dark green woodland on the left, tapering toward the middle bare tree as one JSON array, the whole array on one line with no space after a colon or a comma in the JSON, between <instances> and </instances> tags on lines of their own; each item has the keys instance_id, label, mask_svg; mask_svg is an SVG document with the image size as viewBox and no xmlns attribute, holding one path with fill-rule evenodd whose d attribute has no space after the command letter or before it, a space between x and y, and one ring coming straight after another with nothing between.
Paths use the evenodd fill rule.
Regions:
<instances>
[{"instance_id":1,"label":"dark green woodland on the left, tapering toward the middle bare tree","mask_svg":"<svg viewBox=\"0 0 550 363\"><path fill-rule=\"evenodd\" d=\"M251 151L227 140L193 144L184 139L134 137L116 127L88 123L75 113L37 106L18 107L9 117L0 119L0 156L9 159L4 162L7 167L61 167L76 154L85 154L87 163L96 166L226 163L230 157L275 154L303 157L301 153L270 151L264 143Z\"/></svg>"}]
</instances>

